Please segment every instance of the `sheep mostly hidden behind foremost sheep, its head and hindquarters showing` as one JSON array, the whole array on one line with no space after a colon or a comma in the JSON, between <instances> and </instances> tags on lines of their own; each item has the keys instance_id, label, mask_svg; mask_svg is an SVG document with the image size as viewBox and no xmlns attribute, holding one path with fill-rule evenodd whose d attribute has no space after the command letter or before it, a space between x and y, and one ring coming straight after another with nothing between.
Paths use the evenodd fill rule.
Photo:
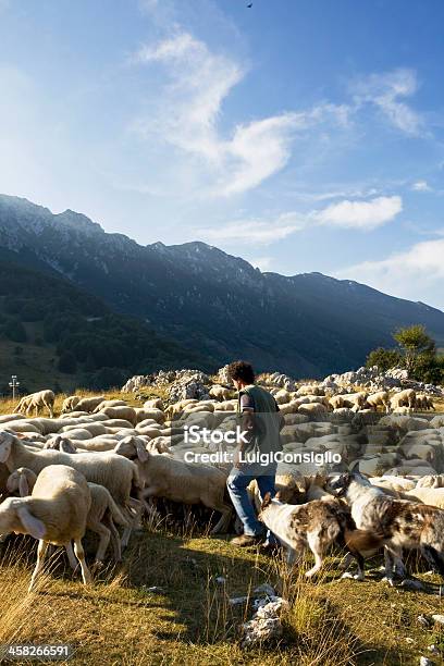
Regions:
<instances>
[{"instance_id":1,"label":"sheep mostly hidden behind foremost sheep, its head and hindquarters showing","mask_svg":"<svg viewBox=\"0 0 444 666\"><path fill-rule=\"evenodd\" d=\"M21 497L25 497L33 491L36 480L37 474L35 472L26 467L20 467L9 476L7 488L10 493L18 493ZM121 541L120 534L114 525L114 520L118 525L122 525L126 528L128 527L128 522L122 516L122 513L111 497L110 492L103 488L103 485L88 483L88 486L91 493L91 506L86 519L86 527L88 530L96 532L96 534L99 534L100 536L95 563L92 565L92 569L97 569L103 564L110 540L112 540L114 559L116 562L121 562ZM108 527L104 525L104 522L108 523ZM71 543L66 546L66 553L72 568L75 569L76 563Z\"/></svg>"}]
</instances>

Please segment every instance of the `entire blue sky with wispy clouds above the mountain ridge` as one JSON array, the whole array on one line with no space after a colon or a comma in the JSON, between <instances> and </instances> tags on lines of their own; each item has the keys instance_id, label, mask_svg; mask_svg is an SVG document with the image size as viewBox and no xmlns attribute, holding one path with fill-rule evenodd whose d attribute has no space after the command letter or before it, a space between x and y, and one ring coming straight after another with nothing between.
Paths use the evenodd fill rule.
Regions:
<instances>
[{"instance_id":1,"label":"entire blue sky with wispy clouds above the mountain ridge","mask_svg":"<svg viewBox=\"0 0 444 666\"><path fill-rule=\"evenodd\" d=\"M444 308L441 0L0 0L0 192Z\"/></svg>"}]
</instances>

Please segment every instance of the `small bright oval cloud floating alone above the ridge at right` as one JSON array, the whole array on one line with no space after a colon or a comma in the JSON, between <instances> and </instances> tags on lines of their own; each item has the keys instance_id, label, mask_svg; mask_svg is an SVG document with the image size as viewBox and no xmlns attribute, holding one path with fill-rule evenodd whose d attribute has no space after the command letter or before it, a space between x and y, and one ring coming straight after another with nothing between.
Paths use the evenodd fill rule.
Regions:
<instances>
[{"instance_id":1,"label":"small bright oval cloud floating alone above the ridge at right","mask_svg":"<svg viewBox=\"0 0 444 666\"><path fill-rule=\"evenodd\" d=\"M344 200L316 213L321 224L372 230L393 220L403 210L398 196L377 197L370 201Z\"/></svg>"}]
</instances>

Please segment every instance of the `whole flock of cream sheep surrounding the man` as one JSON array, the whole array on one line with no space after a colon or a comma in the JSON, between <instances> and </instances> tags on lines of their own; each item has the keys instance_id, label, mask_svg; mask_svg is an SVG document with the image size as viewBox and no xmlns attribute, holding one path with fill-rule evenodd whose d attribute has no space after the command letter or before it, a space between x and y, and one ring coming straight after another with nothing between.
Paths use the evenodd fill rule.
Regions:
<instances>
[{"instance_id":1,"label":"whole flock of cream sheep surrounding the man","mask_svg":"<svg viewBox=\"0 0 444 666\"><path fill-rule=\"evenodd\" d=\"M367 473L388 493L408 493L444 508L444 415L427 414L434 409L427 395L411 388L392 395L328 395L318 384L288 392L267 378L263 383L283 414L284 452L340 452L343 469ZM82 546L87 529L99 535L94 572L109 545L113 558L121 559L145 513L166 508L183 517L181 507L200 505L210 509L203 511L207 521L210 513L220 514L212 532L233 526L226 493L231 466L184 460L190 447L208 453L213 446L203 440L185 443L185 422L221 431L236 423L232 390L213 385L209 396L168 406L155 398L131 407L123 399L73 395L54 418L54 394L41 391L22 398L14 414L0 417L0 534L3 540L16 532L39 541L30 588L50 543L66 548L73 568L79 563L85 583L92 579ZM50 418L39 417L41 409ZM317 498L323 492L319 471L310 464L280 464L281 498L295 504ZM250 492L258 505L255 484Z\"/></svg>"}]
</instances>

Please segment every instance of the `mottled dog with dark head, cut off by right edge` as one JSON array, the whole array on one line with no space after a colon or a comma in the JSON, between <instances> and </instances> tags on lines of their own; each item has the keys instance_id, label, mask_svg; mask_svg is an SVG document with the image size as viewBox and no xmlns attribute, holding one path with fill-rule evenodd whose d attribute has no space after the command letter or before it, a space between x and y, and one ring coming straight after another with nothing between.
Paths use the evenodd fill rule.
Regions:
<instances>
[{"instance_id":1,"label":"mottled dog with dark head, cut off by right edge","mask_svg":"<svg viewBox=\"0 0 444 666\"><path fill-rule=\"evenodd\" d=\"M408 499L396 499L371 485L359 472L338 474L326 490L344 496L359 529L382 535L385 578L393 584L394 569L406 576L403 548L419 548L428 563L444 576L444 510Z\"/></svg>"}]
</instances>

